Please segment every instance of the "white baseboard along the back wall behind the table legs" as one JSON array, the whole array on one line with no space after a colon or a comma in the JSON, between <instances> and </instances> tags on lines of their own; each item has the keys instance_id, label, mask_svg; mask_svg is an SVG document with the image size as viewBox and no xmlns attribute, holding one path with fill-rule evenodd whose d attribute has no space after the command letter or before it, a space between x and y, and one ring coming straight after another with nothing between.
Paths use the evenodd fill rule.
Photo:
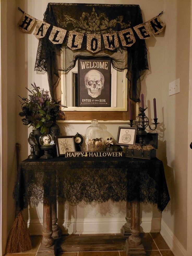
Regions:
<instances>
[{"instance_id":1,"label":"white baseboard along the back wall behind the table legs","mask_svg":"<svg viewBox=\"0 0 192 256\"><path fill-rule=\"evenodd\" d=\"M31 235L41 235L43 219L26 221ZM118 234L125 224L125 218L95 219L58 219L63 234ZM160 232L161 218L141 218L140 231L143 233Z\"/></svg>"}]
</instances>

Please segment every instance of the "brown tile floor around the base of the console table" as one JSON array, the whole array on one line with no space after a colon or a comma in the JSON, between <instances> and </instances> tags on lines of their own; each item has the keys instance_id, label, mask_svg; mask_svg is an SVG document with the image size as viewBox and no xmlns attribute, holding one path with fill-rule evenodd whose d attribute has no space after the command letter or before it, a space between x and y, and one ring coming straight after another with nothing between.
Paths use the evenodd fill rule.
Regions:
<instances>
[{"instance_id":1,"label":"brown tile floor around the base of the console table","mask_svg":"<svg viewBox=\"0 0 192 256\"><path fill-rule=\"evenodd\" d=\"M174 256L160 233L141 233L146 256ZM31 236L33 249L23 253L6 254L6 256L35 256L41 242L41 236ZM24 254L24 255L23 255ZM123 251L105 252L64 252L59 256L126 256Z\"/></svg>"}]
</instances>

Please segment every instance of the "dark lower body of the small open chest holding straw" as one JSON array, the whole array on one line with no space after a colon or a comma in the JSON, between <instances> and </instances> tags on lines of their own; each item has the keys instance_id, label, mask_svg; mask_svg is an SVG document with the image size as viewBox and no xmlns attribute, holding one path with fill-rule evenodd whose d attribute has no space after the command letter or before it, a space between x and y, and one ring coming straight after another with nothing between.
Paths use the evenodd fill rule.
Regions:
<instances>
[{"instance_id":1,"label":"dark lower body of the small open chest holding straw","mask_svg":"<svg viewBox=\"0 0 192 256\"><path fill-rule=\"evenodd\" d=\"M153 159L156 157L156 150L137 150L126 148L125 157Z\"/></svg>"}]
</instances>

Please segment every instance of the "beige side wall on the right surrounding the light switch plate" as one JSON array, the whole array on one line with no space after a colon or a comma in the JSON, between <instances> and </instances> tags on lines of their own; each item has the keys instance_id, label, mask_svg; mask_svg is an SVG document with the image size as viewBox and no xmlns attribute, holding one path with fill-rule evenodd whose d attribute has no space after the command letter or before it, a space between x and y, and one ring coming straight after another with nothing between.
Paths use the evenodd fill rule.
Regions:
<instances>
[{"instance_id":1,"label":"beige side wall on the right surrounding the light switch plate","mask_svg":"<svg viewBox=\"0 0 192 256\"><path fill-rule=\"evenodd\" d=\"M187 152L190 53L190 1L165 1L166 31L162 106L163 160L171 201L162 218L187 249ZM169 82L180 78L180 93L168 96Z\"/></svg>"}]
</instances>

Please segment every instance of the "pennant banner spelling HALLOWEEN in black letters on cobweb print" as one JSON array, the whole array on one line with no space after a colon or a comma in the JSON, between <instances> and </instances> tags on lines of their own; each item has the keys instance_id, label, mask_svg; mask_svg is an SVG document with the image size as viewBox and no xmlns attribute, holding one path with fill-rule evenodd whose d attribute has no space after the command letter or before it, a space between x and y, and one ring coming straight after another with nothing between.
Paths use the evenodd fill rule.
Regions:
<instances>
[{"instance_id":1,"label":"pennant banner spelling HALLOWEEN in black letters on cobweb print","mask_svg":"<svg viewBox=\"0 0 192 256\"><path fill-rule=\"evenodd\" d=\"M22 11L20 8L18 8ZM22 11L23 15L18 23L18 26L22 32L29 32L35 23L34 17ZM81 49L83 37L87 37L87 50L90 52L98 52L101 50L101 38L106 49L111 51L116 50L120 45L130 47L136 42L134 32L138 35L140 39L149 39L152 34L159 34L163 31L165 24L159 18L163 14L163 11L154 18L148 20L145 23L139 24L133 28L127 28L122 31L111 31L107 34L87 34L79 33L76 31L67 31L63 28L52 26L51 33L49 35L49 40L53 44L62 44L66 34L68 34L68 41L66 45L71 50ZM37 21L34 35L36 38L40 39L45 37L47 30L51 24L44 21Z\"/></svg>"}]
</instances>

